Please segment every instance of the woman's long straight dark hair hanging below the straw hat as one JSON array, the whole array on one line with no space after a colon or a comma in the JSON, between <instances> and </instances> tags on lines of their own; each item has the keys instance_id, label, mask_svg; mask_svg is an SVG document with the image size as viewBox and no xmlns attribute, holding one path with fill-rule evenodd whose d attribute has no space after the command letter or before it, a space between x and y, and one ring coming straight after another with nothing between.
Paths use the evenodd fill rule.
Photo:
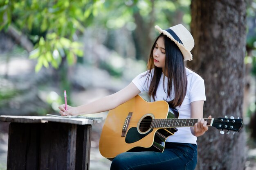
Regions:
<instances>
[{"instance_id":1,"label":"woman's long straight dark hair hanging below the straw hat","mask_svg":"<svg viewBox=\"0 0 256 170\"><path fill-rule=\"evenodd\" d=\"M153 50L155 48L156 42L159 39L159 37L164 37L165 65L163 69L156 67L154 65L154 59L153 59ZM148 68L148 72L145 74L145 76L148 75L147 77L148 81L150 79L149 77L151 75L152 70L154 70L154 75L150 82L148 94L152 96L153 99L155 100L157 87L158 87L162 72L164 72L164 75L168 78L167 96L171 98L172 88L174 88L174 93L175 93L174 99L167 102L171 107L180 106L186 96L187 79L186 79L186 69L184 65L183 55L180 49L178 48L178 46L175 44L175 42L172 41L170 38L168 38L166 35L161 33L156 38L151 48L147 68Z\"/></svg>"}]
</instances>

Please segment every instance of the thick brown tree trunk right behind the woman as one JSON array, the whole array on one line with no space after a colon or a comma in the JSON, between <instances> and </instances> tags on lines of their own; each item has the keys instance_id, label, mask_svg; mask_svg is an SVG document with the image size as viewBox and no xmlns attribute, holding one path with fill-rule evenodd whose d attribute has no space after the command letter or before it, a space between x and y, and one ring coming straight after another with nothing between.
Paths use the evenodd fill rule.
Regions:
<instances>
[{"instance_id":1,"label":"thick brown tree trunk right behind the woman","mask_svg":"<svg viewBox=\"0 0 256 170\"><path fill-rule=\"evenodd\" d=\"M192 0L193 61L203 78L204 117L242 118L245 77L245 0ZM197 170L245 169L245 131L221 135L213 127L198 137Z\"/></svg>"}]
</instances>

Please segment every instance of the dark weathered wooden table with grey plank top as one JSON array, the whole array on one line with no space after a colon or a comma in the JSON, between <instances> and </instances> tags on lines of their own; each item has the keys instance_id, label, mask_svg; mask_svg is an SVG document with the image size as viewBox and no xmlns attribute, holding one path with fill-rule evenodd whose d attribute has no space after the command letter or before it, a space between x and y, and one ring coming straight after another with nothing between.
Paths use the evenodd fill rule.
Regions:
<instances>
[{"instance_id":1,"label":"dark weathered wooden table with grey plank top","mask_svg":"<svg viewBox=\"0 0 256 170\"><path fill-rule=\"evenodd\" d=\"M100 120L0 116L9 124L7 170L88 170L92 125Z\"/></svg>"}]
</instances>

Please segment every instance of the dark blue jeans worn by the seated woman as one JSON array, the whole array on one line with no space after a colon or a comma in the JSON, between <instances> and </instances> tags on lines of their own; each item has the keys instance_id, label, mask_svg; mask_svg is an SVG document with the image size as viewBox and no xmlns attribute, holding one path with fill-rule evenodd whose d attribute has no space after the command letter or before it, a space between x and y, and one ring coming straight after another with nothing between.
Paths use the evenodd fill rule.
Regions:
<instances>
[{"instance_id":1,"label":"dark blue jeans worn by the seated woman","mask_svg":"<svg viewBox=\"0 0 256 170\"><path fill-rule=\"evenodd\" d=\"M166 142L163 153L121 153L113 159L110 170L194 170L196 163L196 144Z\"/></svg>"}]
</instances>

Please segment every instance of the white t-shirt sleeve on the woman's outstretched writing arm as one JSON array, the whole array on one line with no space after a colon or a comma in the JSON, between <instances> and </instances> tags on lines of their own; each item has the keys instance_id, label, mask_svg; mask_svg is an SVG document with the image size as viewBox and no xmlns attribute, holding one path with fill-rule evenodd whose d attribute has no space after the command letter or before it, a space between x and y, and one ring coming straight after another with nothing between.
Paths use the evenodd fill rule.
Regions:
<instances>
[{"instance_id":1,"label":"white t-shirt sleeve on the woman's outstretched writing arm","mask_svg":"<svg viewBox=\"0 0 256 170\"><path fill-rule=\"evenodd\" d=\"M148 92L148 75L145 74L146 72L143 72L132 80L132 83L135 84L135 86L139 89L140 92Z\"/></svg>"}]
</instances>

